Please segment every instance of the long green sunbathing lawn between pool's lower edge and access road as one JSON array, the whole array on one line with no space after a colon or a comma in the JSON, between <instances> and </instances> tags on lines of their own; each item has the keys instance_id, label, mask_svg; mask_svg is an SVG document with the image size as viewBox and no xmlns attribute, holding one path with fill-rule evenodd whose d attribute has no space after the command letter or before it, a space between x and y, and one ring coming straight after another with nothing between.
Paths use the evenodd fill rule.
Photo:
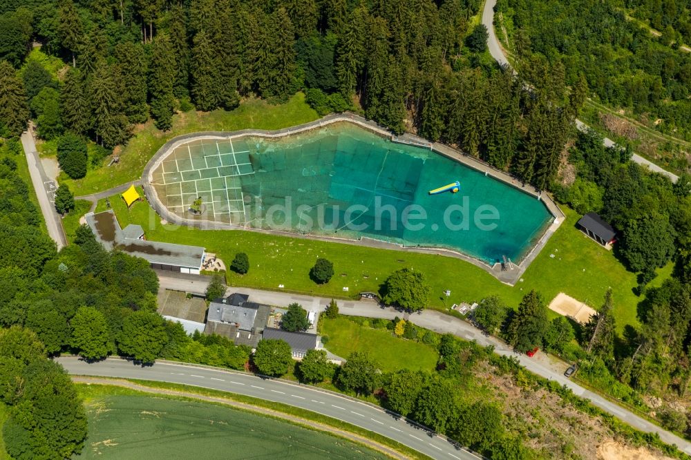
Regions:
<instances>
[{"instance_id":1,"label":"long green sunbathing lawn between pool's lower edge and access road","mask_svg":"<svg viewBox=\"0 0 691 460\"><path fill-rule=\"evenodd\" d=\"M343 287L349 287L354 294L377 291L392 271L413 267L426 275L433 293L430 307L436 309L446 309L461 301L472 303L491 294L501 296L515 307L530 289L540 291L547 302L559 292L565 292L598 308L607 287L612 287L618 329L638 325L636 305L641 298L634 294L636 275L626 271L612 251L606 251L578 231L575 225L579 215L569 209L565 209L567 220L527 269L522 281L510 287L486 271L451 257L248 231L205 231L162 225L160 217L146 202L138 202L128 210L122 199L114 196L111 205L123 227L129 223L140 224L150 240L203 246L227 263L237 252L247 253L251 265L249 273L245 276L227 274L230 285L278 289L278 285L283 284L287 291L342 297ZM102 201L97 210L104 209ZM334 262L336 276L326 285L316 285L308 276L317 257ZM659 273L661 276L656 283L669 277L671 269L665 267ZM448 300L443 295L445 289L451 289Z\"/></svg>"}]
</instances>

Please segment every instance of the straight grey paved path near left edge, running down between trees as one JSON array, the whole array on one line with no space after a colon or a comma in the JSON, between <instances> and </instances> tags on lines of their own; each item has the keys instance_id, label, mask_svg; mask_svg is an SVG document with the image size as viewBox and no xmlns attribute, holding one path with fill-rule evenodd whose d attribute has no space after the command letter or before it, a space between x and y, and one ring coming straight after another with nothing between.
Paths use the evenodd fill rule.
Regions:
<instances>
[{"instance_id":1,"label":"straight grey paved path near left edge, running down between trees","mask_svg":"<svg viewBox=\"0 0 691 460\"><path fill-rule=\"evenodd\" d=\"M24 131L21 135L21 145L24 148L24 155L26 155L26 162L29 165L29 174L31 176L31 183L36 191L36 196L39 200L39 207L41 213L46 221L48 227L48 236L53 238L59 251L67 246L67 237L62 228L62 220L60 215L55 211L55 191L57 184L46 176L39 154L36 151L36 144L30 131Z\"/></svg>"}]
</instances>

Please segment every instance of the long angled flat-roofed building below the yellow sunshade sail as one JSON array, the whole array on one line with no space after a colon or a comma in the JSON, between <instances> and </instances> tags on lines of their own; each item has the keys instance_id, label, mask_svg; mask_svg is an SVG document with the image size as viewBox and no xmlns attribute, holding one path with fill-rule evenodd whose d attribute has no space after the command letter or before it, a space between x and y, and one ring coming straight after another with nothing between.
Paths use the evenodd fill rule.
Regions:
<instances>
[{"instance_id":1,"label":"long angled flat-roofed building below the yellow sunshade sail","mask_svg":"<svg viewBox=\"0 0 691 460\"><path fill-rule=\"evenodd\" d=\"M140 225L128 225L125 229L111 209L102 213L88 213L86 223L96 239L108 251L117 249L131 256L147 260L153 269L180 271L198 275L205 258L205 249L198 246L173 245L172 243L146 241Z\"/></svg>"}]
</instances>

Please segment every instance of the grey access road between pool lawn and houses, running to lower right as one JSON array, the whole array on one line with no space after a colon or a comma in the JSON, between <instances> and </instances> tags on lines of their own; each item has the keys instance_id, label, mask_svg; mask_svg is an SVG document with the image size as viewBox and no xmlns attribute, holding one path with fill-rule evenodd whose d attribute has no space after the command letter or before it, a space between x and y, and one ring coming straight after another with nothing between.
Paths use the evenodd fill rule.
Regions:
<instances>
[{"instance_id":1,"label":"grey access road between pool lawn and houses, running to lower right","mask_svg":"<svg viewBox=\"0 0 691 460\"><path fill-rule=\"evenodd\" d=\"M162 289L178 289L180 291L187 291L202 294L207 287L207 280L204 276L193 276L183 274L161 275L158 272L160 287ZM286 292L261 291L258 289L248 289L243 287L230 288L229 291L240 292L242 294L249 294L254 302L267 303L269 305L283 306L290 303L297 302L303 305L307 310L323 311L330 302L330 298L310 297L299 294L290 294ZM431 329L440 334L451 333L468 341L475 341L480 345L491 345L495 352L502 356L515 356L521 365L527 370L538 374L550 380L557 381L560 385L566 385L575 394L585 399L589 399L591 403L598 408L613 414L618 419L621 419L631 425L632 427L643 432L654 432L659 434L660 438L668 444L676 444L681 450L687 454L691 454L691 442L681 439L658 425L643 419L641 416L622 408L620 405L609 401L597 393L586 390L578 385L578 383L571 381L564 376L564 371L568 364L561 361L551 360L549 356L544 353L538 353L535 357L529 358L525 354L517 354L513 352L511 347L500 341L500 339L493 336L486 336L480 329L473 327L470 323L464 320L455 318L454 316L446 315L436 310L424 310L420 313L404 315L402 312L392 309L390 307L380 307L372 301L362 300L339 300L339 312L344 315L352 316L367 316L369 318L385 318L393 319L396 316L405 317L412 321L415 325Z\"/></svg>"}]
</instances>

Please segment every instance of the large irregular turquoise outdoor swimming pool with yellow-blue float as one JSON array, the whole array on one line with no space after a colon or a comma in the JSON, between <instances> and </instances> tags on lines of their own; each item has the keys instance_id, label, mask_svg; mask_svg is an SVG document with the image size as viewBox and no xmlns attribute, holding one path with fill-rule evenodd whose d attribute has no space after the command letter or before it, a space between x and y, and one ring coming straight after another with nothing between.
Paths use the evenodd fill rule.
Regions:
<instances>
[{"instance_id":1,"label":"large irregular turquoise outdoor swimming pool with yellow-blue float","mask_svg":"<svg viewBox=\"0 0 691 460\"><path fill-rule=\"evenodd\" d=\"M458 193L428 195L456 180ZM347 122L184 142L151 184L164 207L189 220L443 247L491 264L518 262L553 220L533 195Z\"/></svg>"}]
</instances>

